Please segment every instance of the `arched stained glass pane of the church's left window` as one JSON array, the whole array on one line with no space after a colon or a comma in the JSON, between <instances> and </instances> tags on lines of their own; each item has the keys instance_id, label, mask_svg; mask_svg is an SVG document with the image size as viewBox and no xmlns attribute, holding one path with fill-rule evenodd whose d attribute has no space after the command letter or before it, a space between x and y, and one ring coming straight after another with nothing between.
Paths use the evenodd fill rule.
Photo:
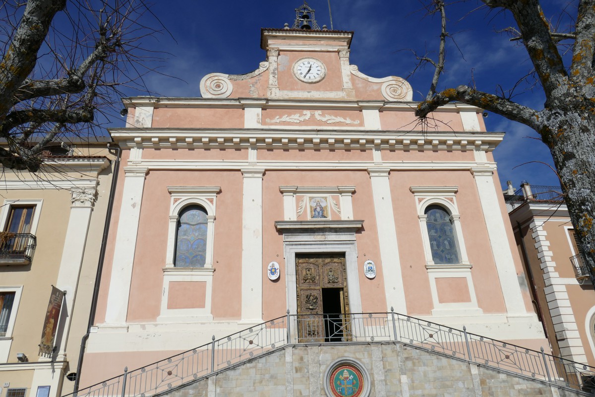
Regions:
<instances>
[{"instance_id":1,"label":"arched stained glass pane of the church's left window","mask_svg":"<svg viewBox=\"0 0 595 397\"><path fill-rule=\"evenodd\" d=\"M205 267L206 211L191 205L180 212L176 237L176 267Z\"/></svg>"}]
</instances>

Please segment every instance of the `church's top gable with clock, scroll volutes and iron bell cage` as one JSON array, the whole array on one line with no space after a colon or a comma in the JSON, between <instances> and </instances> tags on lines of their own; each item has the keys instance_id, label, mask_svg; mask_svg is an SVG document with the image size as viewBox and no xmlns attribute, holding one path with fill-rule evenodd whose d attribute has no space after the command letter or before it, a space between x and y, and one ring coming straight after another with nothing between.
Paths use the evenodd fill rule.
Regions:
<instances>
[{"instance_id":1,"label":"church's top gable with clock, scroll volutes and iron bell cage","mask_svg":"<svg viewBox=\"0 0 595 397\"><path fill-rule=\"evenodd\" d=\"M267 58L247 74L211 73L201 81L203 98L266 98L332 101L411 101L400 77L366 76L349 62L353 32L320 27L307 2L295 8L290 27L261 29Z\"/></svg>"}]
</instances>

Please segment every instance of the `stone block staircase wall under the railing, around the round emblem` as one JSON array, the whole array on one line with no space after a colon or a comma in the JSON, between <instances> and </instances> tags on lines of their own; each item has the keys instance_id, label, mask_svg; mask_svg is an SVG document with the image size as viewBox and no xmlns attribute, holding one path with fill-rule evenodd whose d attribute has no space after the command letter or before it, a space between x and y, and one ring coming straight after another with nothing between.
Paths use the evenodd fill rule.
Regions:
<instances>
[{"instance_id":1,"label":"stone block staircase wall under the railing, around the round emblem","mask_svg":"<svg viewBox=\"0 0 595 397\"><path fill-rule=\"evenodd\" d=\"M398 342L287 345L161 394L325 396L325 368L342 357L361 362L367 370L371 378L370 396L590 395Z\"/></svg>"}]
</instances>

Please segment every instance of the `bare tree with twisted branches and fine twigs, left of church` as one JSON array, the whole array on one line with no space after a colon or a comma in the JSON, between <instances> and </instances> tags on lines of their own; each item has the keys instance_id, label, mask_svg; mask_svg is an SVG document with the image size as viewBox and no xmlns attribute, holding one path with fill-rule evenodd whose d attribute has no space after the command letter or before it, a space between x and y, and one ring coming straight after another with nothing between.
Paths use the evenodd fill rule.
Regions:
<instances>
[{"instance_id":1,"label":"bare tree with twisted branches and fine twigs, left of church","mask_svg":"<svg viewBox=\"0 0 595 397\"><path fill-rule=\"evenodd\" d=\"M44 145L104 134L99 124L120 111L120 85L148 92L143 77L161 53L142 47L156 33L147 7L143 0L0 6L0 139L8 143L0 164L35 172Z\"/></svg>"}]
</instances>

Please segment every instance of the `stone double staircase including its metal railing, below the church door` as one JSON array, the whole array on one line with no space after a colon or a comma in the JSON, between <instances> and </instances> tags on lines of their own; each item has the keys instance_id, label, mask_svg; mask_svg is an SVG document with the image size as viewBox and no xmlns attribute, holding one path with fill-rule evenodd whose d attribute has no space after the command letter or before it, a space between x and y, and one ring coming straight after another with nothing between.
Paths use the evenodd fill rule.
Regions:
<instances>
[{"instance_id":1,"label":"stone double staircase including its metal railing, below the church door","mask_svg":"<svg viewBox=\"0 0 595 397\"><path fill-rule=\"evenodd\" d=\"M558 397L595 390L588 365L392 311L288 313L68 396L318 397L330 393L323 374L339 358L358 361L372 396Z\"/></svg>"}]
</instances>

